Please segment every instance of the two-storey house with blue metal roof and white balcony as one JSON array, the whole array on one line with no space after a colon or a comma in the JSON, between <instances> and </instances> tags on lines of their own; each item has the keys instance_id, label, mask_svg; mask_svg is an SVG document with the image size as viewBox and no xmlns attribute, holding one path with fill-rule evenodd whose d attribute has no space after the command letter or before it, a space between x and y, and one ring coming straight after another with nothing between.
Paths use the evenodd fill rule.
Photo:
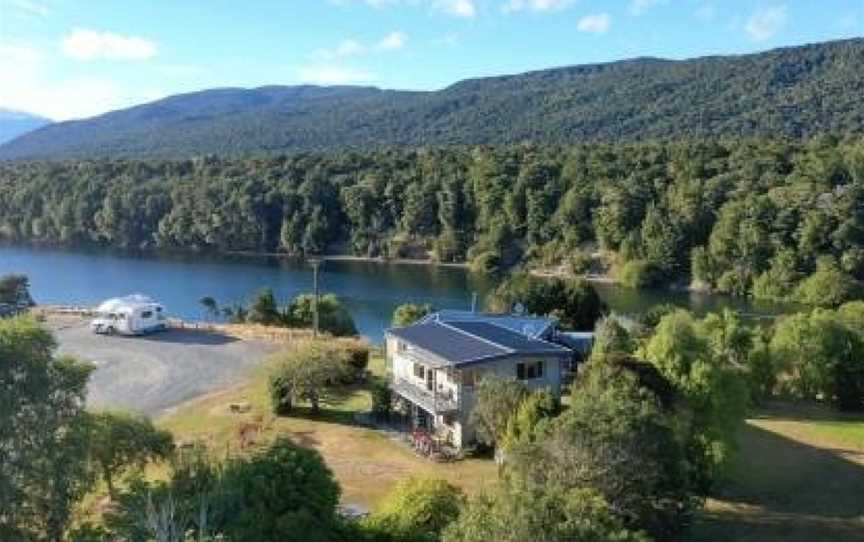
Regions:
<instances>
[{"instance_id":1,"label":"two-storey house with blue metal roof and white balcony","mask_svg":"<svg viewBox=\"0 0 864 542\"><path fill-rule=\"evenodd\" d=\"M462 448L475 438L470 413L484 376L561 393L562 373L574 352L551 342L555 333L554 321L547 318L459 311L429 315L386 333L393 391L415 427Z\"/></svg>"}]
</instances>

